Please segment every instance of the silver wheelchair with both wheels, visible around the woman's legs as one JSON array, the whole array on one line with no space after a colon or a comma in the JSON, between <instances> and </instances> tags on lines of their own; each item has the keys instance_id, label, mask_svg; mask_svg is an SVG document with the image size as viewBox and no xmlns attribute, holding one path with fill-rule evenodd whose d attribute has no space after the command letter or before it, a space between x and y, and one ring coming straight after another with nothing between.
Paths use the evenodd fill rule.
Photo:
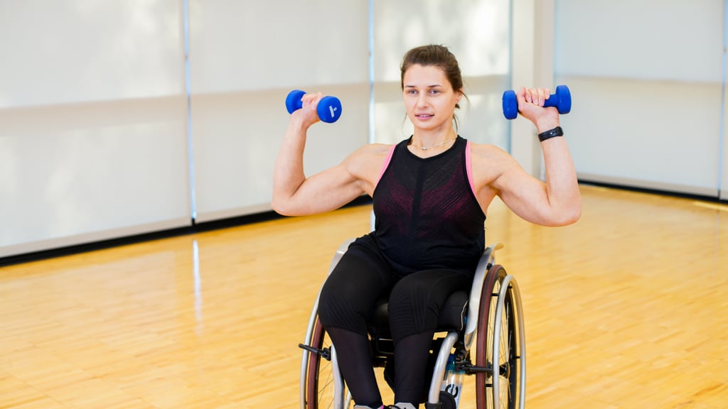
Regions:
<instances>
[{"instance_id":1,"label":"silver wheelchair with both wheels, visible around the woman's legs","mask_svg":"<svg viewBox=\"0 0 728 409\"><path fill-rule=\"evenodd\" d=\"M331 274L352 241L353 239L347 240L336 250L328 274ZM502 247L500 244L486 247L480 256L467 302L464 328L459 331L448 331L445 338L433 339L433 344L435 342L441 342L441 344L432 370L425 408L443 407L441 394L445 392L441 392L440 389L443 385L448 357L453 349L456 356L456 369L464 371L466 375L475 375L475 397L478 409L524 408L526 338L521 293L515 278L506 274L505 269L495 263L495 252ZM304 350L301 357L301 409L348 409L352 405L352 398L339 373L336 349L333 345L323 346L326 334L317 320L319 296L320 290L309 317L306 338L303 344L299 344ZM477 317L477 319L470 317ZM505 328L502 328L503 319L506 319ZM505 335L505 343L502 345L503 335ZM371 339L370 341L378 340ZM470 352L474 343L476 356L475 365L472 365ZM502 362L504 358L505 362ZM327 379L320 378L322 360L331 362L330 379L328 376ZM494 365L493 362L498 363ZM496 373L498 376L494 376ZM507 379L507 389L502 388L501 378ZM328 388L333 389L333 392L326 392L327 405L319 408L319 395L322 395L323 391ZM488 389L490 389L490 393L487 393ZM454 403L454 400L452 402Z\"/></svg>"}]
</instances>

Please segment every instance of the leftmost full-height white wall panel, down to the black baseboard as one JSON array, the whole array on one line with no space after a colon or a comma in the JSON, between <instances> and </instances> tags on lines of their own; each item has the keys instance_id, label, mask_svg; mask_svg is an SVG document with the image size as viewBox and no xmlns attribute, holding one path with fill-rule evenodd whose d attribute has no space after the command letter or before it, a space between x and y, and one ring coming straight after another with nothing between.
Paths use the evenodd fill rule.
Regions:
<instances>
[{"instance_id":1,"label":"leftmost full-height white wall panel, down to the black baseboard","mask_svg":"<svg viewBox=\"0 0 728 409\"><path fill-rule=\"evenodd\" d=\"M0 1L0 257L189 224L181 21Z\"/></svg>"}]
</instances>

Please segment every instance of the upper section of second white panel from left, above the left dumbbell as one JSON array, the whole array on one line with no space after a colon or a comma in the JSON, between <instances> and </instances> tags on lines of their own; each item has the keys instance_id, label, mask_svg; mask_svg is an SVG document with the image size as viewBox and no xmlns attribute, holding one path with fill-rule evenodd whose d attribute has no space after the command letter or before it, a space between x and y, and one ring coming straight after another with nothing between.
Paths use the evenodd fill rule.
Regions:
<instances>
[{"instance_id":1,"label":"upper section of second white panel from left, above the left dumbbell","mask_svg":"<svg viewBox=\"0 0 728 409\"><path fill-rule=\"evenodd\" d=\"M366 1L192 0L190 15L194 95L368 81Z\"/></svg>"}]
</instances>

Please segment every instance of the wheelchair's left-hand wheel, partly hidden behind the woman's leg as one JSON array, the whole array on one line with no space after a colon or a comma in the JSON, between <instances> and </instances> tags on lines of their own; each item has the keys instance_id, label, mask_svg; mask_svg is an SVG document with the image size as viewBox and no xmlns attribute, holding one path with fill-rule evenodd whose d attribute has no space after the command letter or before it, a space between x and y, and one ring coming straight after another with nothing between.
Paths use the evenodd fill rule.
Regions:
<instances>
[{"instance_id":1,"label":"wheelchair's left-hand wheel, partly hidden behind the woman's leg","mask_svg":"<svg viewBox=\"0 0 728 409\"><path fill-rule=\"evenodd\" d=\"M351 397L336 368L336 352L331 338L316 317L309 346L319 352L308 352L304 385L305 409L346 409Z\"/></svg>"}]
</instances>

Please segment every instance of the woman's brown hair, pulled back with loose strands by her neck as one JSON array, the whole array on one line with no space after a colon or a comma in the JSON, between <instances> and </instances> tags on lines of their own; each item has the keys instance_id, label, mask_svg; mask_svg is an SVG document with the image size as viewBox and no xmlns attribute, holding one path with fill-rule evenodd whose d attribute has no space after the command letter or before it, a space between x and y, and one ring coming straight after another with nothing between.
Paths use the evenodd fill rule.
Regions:
<instances>
[{"instance_id":1,"label":"woman's brown hair, pulled back with loose strands by her neck","mask_svg":"<svg viewBox=\"0 0 728 409\"><path fill-rule=\"evenodd\" d=\"M402 66L400 67L400 87L402 90L405 88L405 72L412 65L422 66L435 66L443 70L448 82L453 87L453 90L460 92L467 100L467 95L463 92L462 84L462 73L460 72L460 65L457 63L455 55L443 45L429 44L421 47L416 47L405 53L402 59ZM456 104L455 108L460 108L460 104ZM453 116L455 121L455 127L457 128L457 116Z\"/></svg>"}]
</instances>

